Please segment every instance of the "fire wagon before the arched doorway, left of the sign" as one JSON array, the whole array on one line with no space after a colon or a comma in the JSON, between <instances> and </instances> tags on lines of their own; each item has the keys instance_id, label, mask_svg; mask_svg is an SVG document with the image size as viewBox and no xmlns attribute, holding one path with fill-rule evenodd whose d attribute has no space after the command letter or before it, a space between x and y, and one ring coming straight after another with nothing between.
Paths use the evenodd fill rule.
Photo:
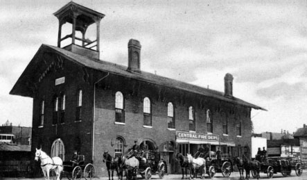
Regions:
<instances>
[{"instance_id":1,"label":"fire wagon before the arched doorway, left of the sign","mask_svg":"<svg viewBox=\"0 0 307 180\"><path fill-rule=\"evenodd\" d=\"M141 174L146 180L150 179L152 174L158 174L159 178L163 179L166 164L161 160L159 152L150 150L138 152L136 158L139 160L139 168L125 167L127 179L137 177L137 174Z\"/></svg>"}]
</instances>

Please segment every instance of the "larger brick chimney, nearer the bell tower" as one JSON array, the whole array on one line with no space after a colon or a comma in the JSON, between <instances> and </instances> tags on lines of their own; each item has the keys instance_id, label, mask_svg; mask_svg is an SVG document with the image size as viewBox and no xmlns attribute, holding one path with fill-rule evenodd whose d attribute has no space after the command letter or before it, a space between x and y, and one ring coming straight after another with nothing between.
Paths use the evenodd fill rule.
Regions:
<instances>
[{"instance_id":1,"label":"larger brick chimney, nearer the bell tower","mask_svg":"<svg viewBox=\"0 0 307 180\"><path fill-rule=\"evenodd\" d=\"M138 40L128 42L128 69L129 72L141 73L141 44Z\"/></svg>"}]
</instances>

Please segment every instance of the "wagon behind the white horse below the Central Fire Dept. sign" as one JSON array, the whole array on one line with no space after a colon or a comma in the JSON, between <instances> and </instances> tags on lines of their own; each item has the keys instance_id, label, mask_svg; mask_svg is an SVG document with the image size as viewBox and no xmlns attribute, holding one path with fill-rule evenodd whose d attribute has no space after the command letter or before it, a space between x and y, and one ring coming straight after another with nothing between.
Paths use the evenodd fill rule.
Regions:
<instances>
[{"instance_id":1,"label":"wagon behind the white horse below the Central Fire Dept. sign","mask_svg":"<svg viewBox=\"0 0 307 180\"><path fill-rule=\"evenodd\" d=\"M223 177L229 177L232 171L230 154L222 154L221 161L216 158L206 160L206 172L210 178L214 177L216 172L221 172Z\"/></svg>"}]
</instances>

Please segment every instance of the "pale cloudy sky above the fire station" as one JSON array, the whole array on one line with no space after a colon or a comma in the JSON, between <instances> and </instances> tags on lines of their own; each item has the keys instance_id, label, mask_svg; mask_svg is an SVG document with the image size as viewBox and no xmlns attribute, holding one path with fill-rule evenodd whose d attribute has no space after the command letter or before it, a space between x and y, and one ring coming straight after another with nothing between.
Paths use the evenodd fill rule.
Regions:
<instances>
[{"instance_id":1,"label":"pale cloudy sky above the fire station","mask_svg":"<svg viewBox=\"0 0 307 180\"><path fill-rule=\"evenodd\" d=\"M234 96L268 110L252 110L256 133L307 124L307 1L74 2L105 14L100 59L128 65L134 38L143 71L221 92L232 74ZM67 3L0 0L0 124L32 126L33 99L9 92L42 44L57 45L53 13Z\"/></svg>"}]
</instances>

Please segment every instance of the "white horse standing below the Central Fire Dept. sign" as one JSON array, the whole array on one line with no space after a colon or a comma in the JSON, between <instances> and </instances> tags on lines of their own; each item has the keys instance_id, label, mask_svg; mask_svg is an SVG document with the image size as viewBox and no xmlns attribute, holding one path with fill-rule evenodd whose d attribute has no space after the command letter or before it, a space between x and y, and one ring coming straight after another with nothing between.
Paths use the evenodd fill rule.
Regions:
<instances>
[{"instance_id":1,"label":"white horse standing below the Central Fire Dept. sign","mask_svg":"<svg viewBox=\"0 0 307 180\"><path fill-rule=\"evenodd\" d=\"M206 174L206 160L204 158L193 158L191 154L186 154L188 158L188 164L191 167L191 172L193 174L193 179L198 174L198 170L202 170L202 177L204 177L204 174ZM201 169L202 168L202 169ZM200 177L202 179L202 177Z\"/></svg>"}]
</instances>

